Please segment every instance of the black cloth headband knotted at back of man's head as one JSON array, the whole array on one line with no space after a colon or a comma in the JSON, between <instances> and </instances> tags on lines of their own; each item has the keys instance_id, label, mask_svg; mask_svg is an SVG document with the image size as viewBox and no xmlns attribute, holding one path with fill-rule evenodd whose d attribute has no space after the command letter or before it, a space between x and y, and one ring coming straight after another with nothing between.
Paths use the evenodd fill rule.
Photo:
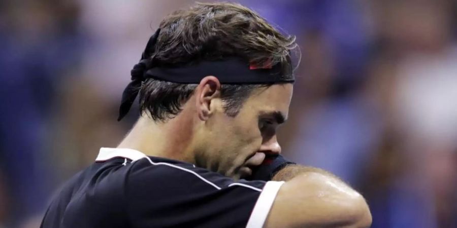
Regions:
<instances>
[{"instance_id":1,"label":"black cloth headband knotted at back of man's head","mask_svg":"<svg viewBox=\"0 0 457 228\"><path fill-rule=\"evenodd\" d=\"M122 93L122 102L119 108L120 121L132 106L137 97L141 83L146 79L157 79L161 81L199 84L208 76L214 75L221 84L280 84L293 83L291 65L282 64L257 66L249 64L239 57L226 57L216 61L198 61L184 66L158 66L152 52L160 32L160 28L150 37L141 60L134 66L130 74L130 82Z\"/></svg>"}]
</instances>

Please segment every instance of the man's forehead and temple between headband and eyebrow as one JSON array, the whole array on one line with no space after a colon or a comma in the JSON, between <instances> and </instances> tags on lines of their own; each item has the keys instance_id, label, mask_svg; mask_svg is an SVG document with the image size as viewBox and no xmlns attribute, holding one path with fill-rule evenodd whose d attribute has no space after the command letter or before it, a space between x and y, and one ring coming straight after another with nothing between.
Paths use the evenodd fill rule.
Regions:
<instances>
[{"instance_id":1,"label":"man's forehead and temple between headband and eyebrow","mask_svg":"<svg viewBox=\"0 0 457 228\"><path fill-rule=\"evenodd\" d=\"M246 100L243 109L257 113L281 112L287 117L292 90L293 85L290 83L257 88Z\"/></svg>"}]
</instances>

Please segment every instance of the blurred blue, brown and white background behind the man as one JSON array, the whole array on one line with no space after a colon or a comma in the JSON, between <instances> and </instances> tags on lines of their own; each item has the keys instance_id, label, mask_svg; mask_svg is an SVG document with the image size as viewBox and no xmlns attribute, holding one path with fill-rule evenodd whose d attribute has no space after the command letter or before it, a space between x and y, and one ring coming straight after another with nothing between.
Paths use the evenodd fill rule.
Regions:
<instances>
[{"instance_id":1,"label":"blurred blue, brown and white background behind the man","mask_svg":"<svg viewBox=\"0 0 457 228\"><path fill-rule=\"evenodd\" d=\"M360 191L372 227L457 227L457 1L238 2L300 45L283 154ZM55 189L116 146L138 115L116 121L130 69L192 4L0 1L0 227L38 227Z\"/></svg>"}]
</instances>

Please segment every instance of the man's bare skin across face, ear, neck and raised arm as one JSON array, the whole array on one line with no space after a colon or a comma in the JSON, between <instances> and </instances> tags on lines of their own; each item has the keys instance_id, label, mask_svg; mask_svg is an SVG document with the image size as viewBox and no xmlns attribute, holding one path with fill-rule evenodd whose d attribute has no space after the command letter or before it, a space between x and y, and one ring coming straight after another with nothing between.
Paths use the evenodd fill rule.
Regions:
<instances>
[{"instance_id":1,"label":"man's bare skin across face, ear, neck and raised arm","mask_svg":"<svg viewBox=\"0 0 457 228\"><path fill-rule=\"evenodd\" d=\"M245 178L267 155L281 153L276 129L287 119L292 84L255 89L236 117L224 113L220 83L202 79L175 118L153 122L144 113L119 144L144 154L193 163L234 179ZM333 174L290 165L264 227L369 227L365 199Z\"/></svg>"}]
</instances>

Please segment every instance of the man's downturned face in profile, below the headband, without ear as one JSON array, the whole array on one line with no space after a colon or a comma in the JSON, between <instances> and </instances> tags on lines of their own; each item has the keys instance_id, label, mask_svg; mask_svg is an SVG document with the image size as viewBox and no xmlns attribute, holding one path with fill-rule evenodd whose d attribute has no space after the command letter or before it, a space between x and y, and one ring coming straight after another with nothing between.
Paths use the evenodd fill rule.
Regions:
<instances>
[{"instance_id":1,"label":"man's downturned face in profile, below the headband, without ear","mask_svg":"<svg viewBox=\"0 0 457 228\"><path fill-rule=\"evenodd\" d=\"M281 153L277 128L288 115L292 84L257 88L236 117L224 113L223 103L212 102L213 115L205 122L204 148L196 155L199 166L235 179L251 175L266 156Z\"/></svg>"}]
</instances>

